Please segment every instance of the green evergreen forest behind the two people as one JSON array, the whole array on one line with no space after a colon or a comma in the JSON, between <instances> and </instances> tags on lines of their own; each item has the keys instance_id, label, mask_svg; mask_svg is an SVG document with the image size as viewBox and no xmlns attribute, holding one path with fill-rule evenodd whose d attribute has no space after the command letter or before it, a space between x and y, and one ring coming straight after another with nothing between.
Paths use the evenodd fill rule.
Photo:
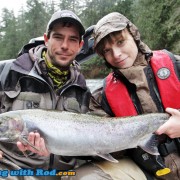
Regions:
<instances>
[{"instance_id":1,"label":"green evergreen forest behind the two people","mask_svg":"<svg viewBox=\"0 0 180 180\"><path fill-rule=\"evenodd\" d=\"M117 11L139 29L151 49L180 54L180 0L27 0L15 16L4 8L0 14L0 60L14 59L30 39L42 36L51 15L58 9L74 11L85 28L104 15ZM86 78L102 78L109 70L93 57L82 64Z\"/></svg>"}]
</instances>

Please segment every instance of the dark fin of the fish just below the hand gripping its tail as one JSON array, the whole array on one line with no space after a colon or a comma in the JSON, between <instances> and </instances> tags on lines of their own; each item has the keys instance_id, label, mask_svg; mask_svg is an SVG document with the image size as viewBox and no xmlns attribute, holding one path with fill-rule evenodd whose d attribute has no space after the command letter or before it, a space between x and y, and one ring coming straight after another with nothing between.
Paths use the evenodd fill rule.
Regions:
<instances>
[{"instance_id":1,"label":"dark fin of the fish just below the hand gripping its tail","mask_svg":"<svg viewBox=\"0 0 180 180\"><path fill-rule=\"evenodd\" d=\"M145 143L139 145L141 149L152 155L159 155L158 151L158 136L156 134L151 134Z\"/></svg>"}]
</instances>

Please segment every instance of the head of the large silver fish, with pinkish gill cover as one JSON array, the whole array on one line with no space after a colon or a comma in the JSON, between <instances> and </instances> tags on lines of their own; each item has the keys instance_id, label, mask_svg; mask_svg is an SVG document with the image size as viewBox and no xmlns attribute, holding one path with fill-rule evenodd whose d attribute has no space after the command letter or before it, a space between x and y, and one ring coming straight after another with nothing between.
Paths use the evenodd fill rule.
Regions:
<instances>
[{"instance_id":1,"label":"head of the large silver fish, with pinkish gill cover","mask_svg":"<svg viewBox=\"0 0 180 180\"><path fill-rule=\"evenodd\" d=\"M0 141L15 142L24 129L20 116L14 113L0 114Z\"/></svg>"}]
</instances>

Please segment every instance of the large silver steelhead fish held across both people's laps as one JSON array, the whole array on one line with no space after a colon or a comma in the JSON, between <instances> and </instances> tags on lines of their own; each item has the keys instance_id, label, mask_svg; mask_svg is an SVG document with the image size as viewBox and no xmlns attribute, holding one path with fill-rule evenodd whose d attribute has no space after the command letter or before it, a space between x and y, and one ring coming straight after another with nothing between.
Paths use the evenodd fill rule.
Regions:
<instances>
[{"instance_id":1,"label":"large silver steelhead fish held across both people's laps","mask_svg":"<svg viewBox=\"0 0 180 180\"><path fill-rule=\"evenodd\" d=\"M40 109L10 111L0 114L0 141L16 143L37 131L53 154L117 162L109 153L138 146L158 155L153 132L169 117L166 113L113 118Z\"/></svg>"}]
</instances>

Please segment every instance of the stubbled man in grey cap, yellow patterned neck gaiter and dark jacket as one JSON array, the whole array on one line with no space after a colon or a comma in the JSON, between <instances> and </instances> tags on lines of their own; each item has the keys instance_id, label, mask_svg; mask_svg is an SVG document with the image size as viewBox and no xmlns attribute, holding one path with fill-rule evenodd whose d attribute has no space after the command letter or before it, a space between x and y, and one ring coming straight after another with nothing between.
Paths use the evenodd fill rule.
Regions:
<instances>
[{"instance_id":1,"label":"stubbled man in grey cap, yellow patterned neck gaiter and dark jacket","mask_svg":"<svg viewBox=\"0 0 180 180\"><path fill-rule=\"evenodd\" d=\"M86 113L90 91L80 73L79 64L75 61L83 45L84 32L80 19L73 12L55 12L44 34L45 45L32 48L15 61L0 67L1 113L34 108ZM19 147L23 149L20 143ZM67 170L77 164L74 158L55 155L41 157L32 152L26 158L14 144L1 143L0 150L3 152L3 159L0 161L2 170ZM23 178L29 177L10 177ZM50 179L45 176L31 177L36 178Z\"/></svg>"}]
</instances>

